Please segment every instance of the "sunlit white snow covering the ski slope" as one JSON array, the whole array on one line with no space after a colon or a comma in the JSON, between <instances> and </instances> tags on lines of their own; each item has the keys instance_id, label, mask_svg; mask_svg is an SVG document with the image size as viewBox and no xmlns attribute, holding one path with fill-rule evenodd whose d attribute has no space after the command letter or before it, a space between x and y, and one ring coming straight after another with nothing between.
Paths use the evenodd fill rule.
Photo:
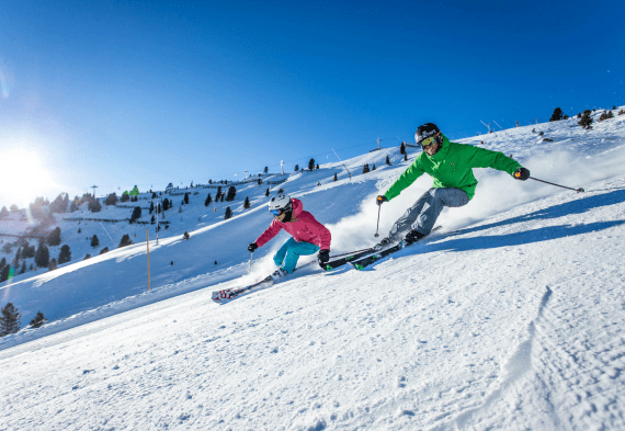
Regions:
<instances>
[{"instance_id":1,"label":"sunlit white snow covering the ski slope","mask_svg":"<svg viewBox=\"0 0 625 431\"><path fill-rule=\"evenodd\" d=\"M246 246L271 222L266 188L250 185L252 208L223 220L192 196L190 224L150 240L149 293L139 231L133 246L0 285L23 325L38 309L50 318L0 339L0 429L625 428L625 115L592 131L576 122L464 141L586 193L476 170L476 197L445 211L430 242L368 271L309 266L214 304L212 291L272 271L286 239L247 273ZM365 162L376 171L360 174ZM384 149L345 161L351 180L328 163L280 186L339 253L375 242L373 199L408 163ZM385 204L380 232L430 184Z\"/></svg>"}]
</instances>

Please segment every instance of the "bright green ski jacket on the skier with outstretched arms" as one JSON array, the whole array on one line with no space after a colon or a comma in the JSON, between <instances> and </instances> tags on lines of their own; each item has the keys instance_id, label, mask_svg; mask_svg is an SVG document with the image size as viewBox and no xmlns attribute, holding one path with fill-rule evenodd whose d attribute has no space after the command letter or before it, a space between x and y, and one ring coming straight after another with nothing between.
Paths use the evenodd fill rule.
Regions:
<instances>
[{"instance_id":1,"label":"bright green ski jacket on the skier with outstretched arms","mask_svg":"<svg viewBox=\"0 0 625 431\"><path fill-rule=\"evenodd\" d=\"M443 135L443 147L432 157L425 151L420 154L384 195L390 201L427 172L434 179L433 188L461 189L471 200L477 185L473 168L493 168L513 174L522 167L503 152L452 143Z\"/></svg>"}]
</instances>

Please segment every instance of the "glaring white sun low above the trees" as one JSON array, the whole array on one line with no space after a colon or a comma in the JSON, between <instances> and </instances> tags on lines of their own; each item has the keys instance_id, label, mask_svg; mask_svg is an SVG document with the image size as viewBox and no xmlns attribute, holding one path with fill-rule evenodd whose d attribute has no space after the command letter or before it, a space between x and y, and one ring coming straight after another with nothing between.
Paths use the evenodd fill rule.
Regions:
<instances>
[{"instance_id":1,"label":"glaring white sun low above the trees","mask_svg":"<svg viewBox=\"0 0 625 431\"><path fill-rule=\"evenodd\" d=\"M0 206L24 208L37 196L47 197L55 184L38 151L0 149Z\"/></svg>"}]
</instances>

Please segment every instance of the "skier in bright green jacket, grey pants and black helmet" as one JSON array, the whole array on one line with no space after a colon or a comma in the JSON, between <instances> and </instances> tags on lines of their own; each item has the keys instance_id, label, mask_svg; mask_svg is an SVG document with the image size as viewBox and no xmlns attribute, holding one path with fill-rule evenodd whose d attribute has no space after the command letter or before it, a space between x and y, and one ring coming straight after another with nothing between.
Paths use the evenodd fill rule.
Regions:
<instances>
[{"instance_id":1,"label":"skier in bright green jacket, grey pants and black helmet","mask_svg":"<svg viewBox=\"0 0 625 431\"><path fill-rule=\"evenodd\" d=\"M388 237L375 247L377 250L401 240L402 245L418 241L430 234L443 207L466 205L477 185L473 168L495 168L521 181L530 178L527 169L502 152L452 143L432 123L419 126L414 140L423 147L423 152L386 193L377 196L376 203L382 205L393 200L423 173L429 173L434 184L393 225Z\"/></svg>"}]
</instances>

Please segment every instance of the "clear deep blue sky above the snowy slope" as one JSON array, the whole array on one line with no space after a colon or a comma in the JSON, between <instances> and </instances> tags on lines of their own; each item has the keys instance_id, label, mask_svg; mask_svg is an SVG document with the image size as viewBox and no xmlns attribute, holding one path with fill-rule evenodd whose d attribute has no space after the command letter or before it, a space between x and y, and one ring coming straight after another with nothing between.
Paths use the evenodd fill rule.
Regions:
<instances>
[{"instance_id":1,"label":"clear deep blue sky above the snowy slope","mask_svg":"<svg viewBox=\"0 0 625 431\"><path fill-rule=\"evenodd\" d=\"M624 19L623 1L5 0L0 206L624 104Z\"/></svg>"}]
</instances>

